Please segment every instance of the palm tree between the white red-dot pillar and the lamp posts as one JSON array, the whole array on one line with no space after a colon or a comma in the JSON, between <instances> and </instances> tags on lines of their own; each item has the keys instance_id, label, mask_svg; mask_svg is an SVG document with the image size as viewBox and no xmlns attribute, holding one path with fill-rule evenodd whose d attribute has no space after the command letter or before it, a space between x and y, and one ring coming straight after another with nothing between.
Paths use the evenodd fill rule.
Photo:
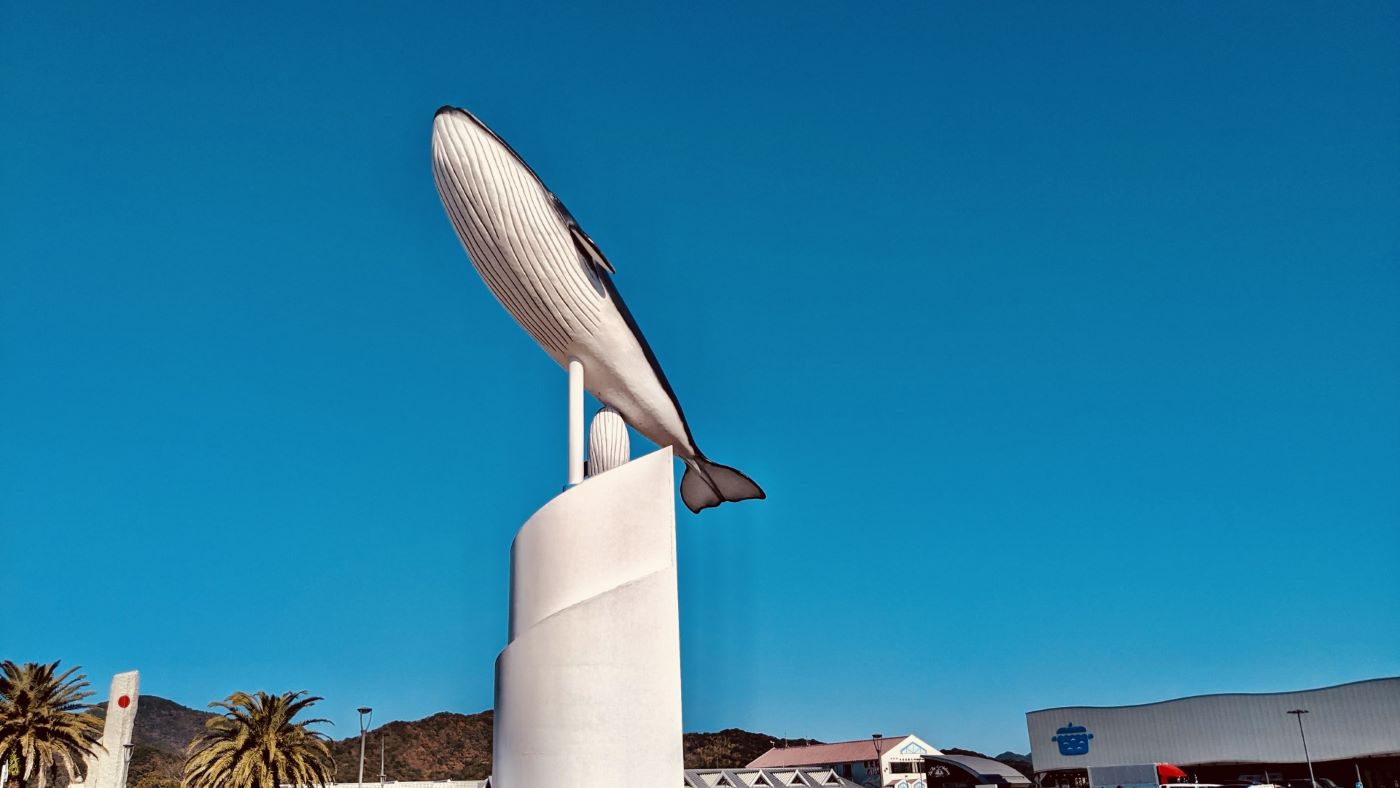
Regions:
<instances>
[{"instance_id":1,"label":"palm tree between the white red-dot pillar and the lamp posts","mask_svg":"<svg viewBox=\"0 0 1400 788\"><path fill-rule=\"evenodd\" d=\"M234 693L209 704L223 708L189 745L182 788L277 788L330 781L326 735L308 726L328 719L291 719L319 697L300 693Z\"/></svg>"}]
</instances>

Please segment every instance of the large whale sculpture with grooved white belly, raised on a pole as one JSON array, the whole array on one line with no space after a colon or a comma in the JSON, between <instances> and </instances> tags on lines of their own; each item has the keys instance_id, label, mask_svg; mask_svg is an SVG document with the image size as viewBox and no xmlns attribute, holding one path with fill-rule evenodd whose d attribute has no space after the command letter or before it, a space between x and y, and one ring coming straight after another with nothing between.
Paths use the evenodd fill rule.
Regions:
<instances>
[{"instance_id":1,"label":"large whale sculpture with grooved white belly, raised on a pole","mask_svg":"<svg viewBox=\"0 0 1400 788\"><path fill-rule=\"evenodd\" d=\"M680 500L692 512L766 497L696 446L612 263L505 140L465 109L438 109L433 179L468 258L515 322L561 367L580 361L599 402L686 463Z\"/></svg>"}]
</instances>

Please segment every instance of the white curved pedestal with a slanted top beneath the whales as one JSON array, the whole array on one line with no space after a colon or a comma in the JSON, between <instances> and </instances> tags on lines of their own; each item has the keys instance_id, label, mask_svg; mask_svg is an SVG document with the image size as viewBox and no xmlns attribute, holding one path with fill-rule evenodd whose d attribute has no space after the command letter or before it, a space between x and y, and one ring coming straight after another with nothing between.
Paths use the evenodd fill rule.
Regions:
<instances>
[{"instance_id":1,"label":"white curved pedestal with a slanted top beneath the whales","mask_svg":"<svg viewBox=\"0 0 1400 788\"><path fill-rule=\"evenodd\" d=\"M685 784L672 465L595 476L515 535L493 788Z\"/></svg>"}]
</instances>

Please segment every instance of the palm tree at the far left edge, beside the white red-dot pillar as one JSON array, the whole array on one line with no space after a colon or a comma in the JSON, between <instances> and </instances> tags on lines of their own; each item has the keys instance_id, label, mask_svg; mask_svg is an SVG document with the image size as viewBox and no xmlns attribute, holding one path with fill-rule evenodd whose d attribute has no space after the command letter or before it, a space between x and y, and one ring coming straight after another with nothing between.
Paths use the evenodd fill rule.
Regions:
<instances>
[{"instance_id":1,"label":"palm tree at the far left edge, beside the white red-dot pillar","mask_svg":"<svg viewBox=\"0 0 1400 788\"><path fill-rule=\"evenodd\" d=\"M80 775L78 764L102 749L102 721L83 703L92 693L78 668L57 673L59 663L0 662L0 759L18 760L20 788L38 777L46 788L55 766Z\"/></svg>"}]
</instances>

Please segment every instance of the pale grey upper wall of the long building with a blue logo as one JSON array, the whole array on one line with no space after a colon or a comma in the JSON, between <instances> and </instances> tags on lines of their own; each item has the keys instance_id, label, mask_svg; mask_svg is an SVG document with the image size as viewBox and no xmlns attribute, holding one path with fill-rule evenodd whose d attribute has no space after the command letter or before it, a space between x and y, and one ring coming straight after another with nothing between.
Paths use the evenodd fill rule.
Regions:
<instances>
[{"instance_id":1,"label":"pale grey upper wall of the long building with a blue logo","mask_svg":"<svg viewBox=\"0 0 1400 788\"><path fill-rule=\"evenodd\" d=\"M1320 690L1218 694L1145 705L1064 707L1026 714L1036 771L1134 763L1302 763L1298 721L1313 761L1400 754L1400 677ZM1061 754L1056 732L1084 726L1089 750Z\"/></svg>"}]
</instances>

